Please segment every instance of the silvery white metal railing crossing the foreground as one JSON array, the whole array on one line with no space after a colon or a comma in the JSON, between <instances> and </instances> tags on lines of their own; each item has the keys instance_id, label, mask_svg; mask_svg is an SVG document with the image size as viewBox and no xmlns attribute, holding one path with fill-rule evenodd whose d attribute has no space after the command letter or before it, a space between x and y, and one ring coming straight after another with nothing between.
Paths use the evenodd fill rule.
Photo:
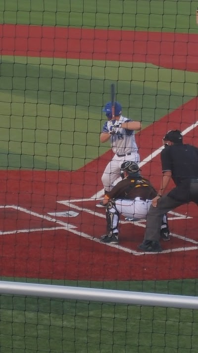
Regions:
<instances>
[{"instance_id":1,"label":"silvery white metal railing crossing the foreground","mask_svg":"<svg viewBox=\"0 0 198 353\"><path fill-rule=\"evenodd\" d=\"M120 304L198 309L198 297L125 290L0 281L0 294L111 302Z\"/></svg>"}]
</instances>

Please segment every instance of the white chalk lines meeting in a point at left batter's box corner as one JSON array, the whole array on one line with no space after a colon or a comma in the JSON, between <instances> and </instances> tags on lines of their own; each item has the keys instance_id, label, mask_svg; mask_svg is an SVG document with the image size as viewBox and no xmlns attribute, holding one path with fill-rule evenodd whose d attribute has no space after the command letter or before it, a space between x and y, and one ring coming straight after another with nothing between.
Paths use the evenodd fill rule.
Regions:
<instances>
[{"instance_id":1,"label":"white chalk lines meeting in a point at left batter's box corner","mask_svg":"<svg viewBox=\"0 0 198 353\"><path fill-rule=\"evenodd\" d=\"M49 227L49 228L30 228L30 229L20 229L20 230L13 230L13 231L7 231L7 232L3 232L0 231L0 235L6 235L6 234L15 234L15 233L25 233L25 232L34 232L34 231L43 231L43 230L56 230L56 229L64 229L64 230L71 230L74 228L77 228L75 225L67 223L67 222L62 222L54 217L50 217L48 215L45 214L40 214L34 211L31 211L29 209L25 209L24 207L20 207L20 206L15 206L15 205L5 205L5 206L1 206L0 205L0 209L12 209L12 210L16 210L16 211L20 211L20 212L24 212L27 214L30 214L32 216L38 217L38 218L42 218L43 220L48 220L49 222L53 222L56 224L59 224L60 227Z\"/></svg>"}]
</instances>

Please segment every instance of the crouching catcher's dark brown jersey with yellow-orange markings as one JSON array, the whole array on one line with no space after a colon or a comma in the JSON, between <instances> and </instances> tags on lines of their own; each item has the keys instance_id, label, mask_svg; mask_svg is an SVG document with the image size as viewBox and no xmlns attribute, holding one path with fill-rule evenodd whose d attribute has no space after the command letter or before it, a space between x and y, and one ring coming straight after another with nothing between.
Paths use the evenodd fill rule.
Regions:
<instances>
[{"instance_id":1,"label":"crouching catcher's dark brown jersey with yellow-orange markings","mask_svg":"<svg viewBox=\"0 0 198 353\"><path fill-rule=\"evenodd\" d=\"M157 192L147 179L141 176L138 178L128 176L117 183L106 195L110 199L134 200L136 197L141 197L144 200L152 200Z\"/></svg>"}]
</instances>

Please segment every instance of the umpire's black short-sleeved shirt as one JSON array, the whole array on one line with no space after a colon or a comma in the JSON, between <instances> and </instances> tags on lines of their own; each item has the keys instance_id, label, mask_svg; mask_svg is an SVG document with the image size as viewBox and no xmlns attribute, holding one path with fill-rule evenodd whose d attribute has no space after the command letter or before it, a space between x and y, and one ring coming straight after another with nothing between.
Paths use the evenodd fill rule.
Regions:
<instances>
[{"instance_id":1,"label":"umpire's black short-sleeved shirt","mask_svg":"<svg viewBox=\"0 0 198 353\"><path fill-rule=\"evenodd\" d=\"M191 179L198 178L198 148L191 144L173 144L161 151L162 172L171 171L176 188L169 196L187 201Z\"/></svg>"}]
</instances>

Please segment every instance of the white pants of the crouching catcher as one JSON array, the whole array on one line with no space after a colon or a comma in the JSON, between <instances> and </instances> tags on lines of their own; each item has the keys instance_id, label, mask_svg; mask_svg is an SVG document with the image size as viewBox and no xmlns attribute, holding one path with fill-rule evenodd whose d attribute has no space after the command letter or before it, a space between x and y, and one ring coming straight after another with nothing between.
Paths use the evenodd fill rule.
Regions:
<instances>
[{"instance_id":1,"label":"white pants of the crouching catcher","mask_svg":"<svg viewBox=\"0 0 198 353\"><path fill-rule=\"evenodd\" d=\"M125 217L134 218L134 219L145 219L150 208L152 200L142 201L139 197L136 197L135 200L115 200L116 210L123 214ZM112 208L109 210L112 213L115 213L115 209ZM113 216L113 228L114 233L117 232L118 225L118 216L115 214Z\"/></svg>"}]
</instances>

